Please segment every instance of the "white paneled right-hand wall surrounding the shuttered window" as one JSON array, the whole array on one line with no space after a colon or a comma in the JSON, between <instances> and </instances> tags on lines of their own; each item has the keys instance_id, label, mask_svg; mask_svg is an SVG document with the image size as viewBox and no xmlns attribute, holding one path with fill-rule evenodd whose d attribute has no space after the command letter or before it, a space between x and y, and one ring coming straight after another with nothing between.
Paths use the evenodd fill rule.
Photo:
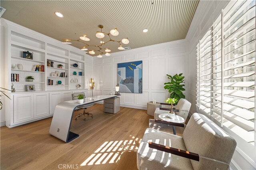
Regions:
<instances>
[{"instance_id":1,"label":"white paneled right-hand wall surrounding the shuttered window","mask_svg":"<svg viewBox=\"0 0 256 170\"><path fill-rule=\"evenodd\" d=\"M220 15L221 10L228 1L200 1L190 25L186 40L188 42L188 53L186 55L186 68L188 68L189 89L187 98L190 101L190 113L196 112L196 45L212 26L214 20ZM238 142L238 141L237 141ZM249 158L242 149L237 146L234 152L231 168L232 169L255 169L255 160ZM243 147L243 149L246 149ZM251 151L255 152L255 151Z\"/></svg>"}]
</instances>

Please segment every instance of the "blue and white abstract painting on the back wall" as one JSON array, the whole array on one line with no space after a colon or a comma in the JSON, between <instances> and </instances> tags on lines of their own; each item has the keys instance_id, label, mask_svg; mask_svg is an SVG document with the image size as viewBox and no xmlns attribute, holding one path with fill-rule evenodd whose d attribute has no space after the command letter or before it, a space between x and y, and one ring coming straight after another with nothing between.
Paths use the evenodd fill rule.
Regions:
<instances>
[{"instance_id":1,"label":"blue and white abstract painting on the back wall","mask_svg":"<svg viewBox=\"0 0 256 170\"><path fill-rule=\"evenodd\" d=\"M118 63L117 83L121 93L142 93L142 61Z\"/></svg>"}]
</instances>

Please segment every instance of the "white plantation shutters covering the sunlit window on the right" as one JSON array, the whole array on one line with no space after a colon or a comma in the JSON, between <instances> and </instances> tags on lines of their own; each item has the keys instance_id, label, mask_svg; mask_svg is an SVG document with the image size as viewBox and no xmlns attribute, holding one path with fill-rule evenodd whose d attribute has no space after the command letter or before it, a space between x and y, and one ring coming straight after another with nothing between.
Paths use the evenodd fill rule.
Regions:
<instances>
[{"instance_id":1,"label":"white plantation shutters covering the sunlit window on the right","mask_svg":"<svg viewBox=\"0 0 256 170\"><path fill-rule=\"evenodd\" d=\"M255 8L255 0L230 1L200 40L196 55L198 112L210 114L252 144L256 138Z\"/></svg>"}]
</instances>

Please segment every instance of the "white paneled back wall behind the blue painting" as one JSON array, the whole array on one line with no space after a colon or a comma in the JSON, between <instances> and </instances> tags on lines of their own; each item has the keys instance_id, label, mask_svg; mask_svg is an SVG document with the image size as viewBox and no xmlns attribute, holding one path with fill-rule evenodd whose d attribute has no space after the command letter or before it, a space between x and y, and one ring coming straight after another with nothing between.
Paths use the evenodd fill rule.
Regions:
<instances>
[{"instance_id":1,"label":"white paneled back wall behind the blue painting","mask_svg":"<svg viewBox=\"0 0 256 170\"><path fill-rule=\"evenodd\" d=\"M166 74L185 73L184 40L111 53L110 57L94 57L95 95L114 93L117 64L142 60L142 93L121 93L121 106L146 109L148 101L164 102L169 97L164 89ZM185 88L186 89L186 88Z\"/></svg>"}]
</instances>

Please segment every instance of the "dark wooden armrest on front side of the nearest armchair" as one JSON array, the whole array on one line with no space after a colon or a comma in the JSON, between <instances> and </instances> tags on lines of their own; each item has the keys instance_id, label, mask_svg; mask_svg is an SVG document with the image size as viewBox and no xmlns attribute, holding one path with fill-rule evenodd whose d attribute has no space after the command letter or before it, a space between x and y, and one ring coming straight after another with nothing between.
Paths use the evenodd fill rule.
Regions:
<instances>
[{"instance_id":1,"label":"dark wooden armrest on front side of the nearest armchair","mask_svg":"<svg viewBox=\"0 0 256 170\"><path fill-rule=\"evenodd\" d=\"M172 148L169 146L164 146L162 144L156 144L153 142L148 142L148 146L150 148L156 149L156 150L161 150L163 152L168 152L174 155L178 155L178 156L182 156L184 158L188 158L188 159L192 159L192 160L196 160L199 161L199 155L193 152L188 152L186 150L181 150L181 149L177 149L177 148Z\"/></svg>"}]
</instances>

